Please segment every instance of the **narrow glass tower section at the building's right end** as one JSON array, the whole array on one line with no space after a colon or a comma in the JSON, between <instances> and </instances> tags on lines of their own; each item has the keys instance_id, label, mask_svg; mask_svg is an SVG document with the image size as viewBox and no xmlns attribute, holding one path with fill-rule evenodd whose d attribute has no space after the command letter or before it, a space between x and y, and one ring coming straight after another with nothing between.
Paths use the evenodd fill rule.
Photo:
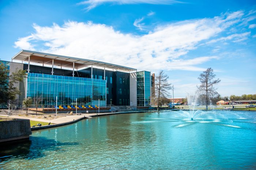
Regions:
<instances>
[{"instance_id":1,"label":"narrow glass tower section at the building's right end","mask_svg":"<svg viewBox=\"0 0 256 170\"><path fill-rule=\"evenodd\" d=\"M137 106L150 106L150 72L137 72Z\"/></svg>"}]
</instances>

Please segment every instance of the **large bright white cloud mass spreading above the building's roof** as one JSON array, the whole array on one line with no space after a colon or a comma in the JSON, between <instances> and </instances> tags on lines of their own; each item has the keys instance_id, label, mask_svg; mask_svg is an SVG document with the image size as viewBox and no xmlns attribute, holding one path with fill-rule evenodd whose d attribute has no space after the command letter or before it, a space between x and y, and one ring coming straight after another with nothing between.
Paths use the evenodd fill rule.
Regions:
<instances>
[{"instance_id":1,"label":"large bright white cloud mass spreading above the building's roof","mask_svg":"<svg viewBox=\"0 0 256 170\"><path fill-rule=\"evenodd\" d=\"M63 26L53 24L51 27L34 24L35 32L19 38L15 47L99 60L138 70L202 71L205 68L197 65L218 57L200 55L187 60L181 57L196 49L203 40L216 38L227 25L232 26L231 23L237 23L240 18L241 15L236 12L214 18L187 20L158 26L144 35L123 34L113 27L93 22L69 21ZM134 25L139 27L141 20ZM245 35L236 37L241 39Z\"/></svg>"}]
</instances>

